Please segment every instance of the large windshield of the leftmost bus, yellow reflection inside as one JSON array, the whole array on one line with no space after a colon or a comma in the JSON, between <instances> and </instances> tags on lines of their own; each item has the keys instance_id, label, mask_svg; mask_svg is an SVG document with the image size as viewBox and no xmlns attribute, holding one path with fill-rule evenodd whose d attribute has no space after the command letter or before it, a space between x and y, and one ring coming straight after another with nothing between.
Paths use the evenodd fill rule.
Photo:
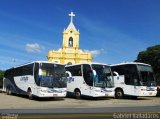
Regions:
<instances>
[{"instance_id":1,"label":"large windshield of the leftmost bus, yellow reflection inside","mask_svg":"<svg viewBox=\"0 0 160 119\"><path fill-rule=\"evenodd\" d=\"M49 88L66 87L65 69L63 65L41 63L39 69L40 86Z\"/></svg>"}]
</instances>

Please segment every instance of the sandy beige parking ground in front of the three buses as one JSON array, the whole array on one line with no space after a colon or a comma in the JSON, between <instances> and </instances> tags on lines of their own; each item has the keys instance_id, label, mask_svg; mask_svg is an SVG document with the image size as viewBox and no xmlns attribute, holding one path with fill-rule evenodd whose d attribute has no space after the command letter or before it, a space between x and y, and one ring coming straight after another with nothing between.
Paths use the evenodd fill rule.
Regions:
<instances>
[{"instance_id":1,"label":"sandy beige parking ground in front of the three buses","mask_svg":"<svg viewBox=\"0 0 160 119\"><path fill-rule=\"evenodd\" d=\"M120 106L159 106L160 97L139 97L138 99L36 99L29 100L26 96L6 95L0 93L0 109L50 109L50 108L97 108Z\"/></svg>"}]
</instances>

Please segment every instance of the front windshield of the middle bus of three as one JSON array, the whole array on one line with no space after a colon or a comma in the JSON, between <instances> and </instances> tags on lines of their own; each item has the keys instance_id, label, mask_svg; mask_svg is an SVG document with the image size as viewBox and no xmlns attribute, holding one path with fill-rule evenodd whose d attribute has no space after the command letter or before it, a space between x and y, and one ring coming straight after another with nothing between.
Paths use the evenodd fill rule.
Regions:
<instances>
[{"instance_id":1,"label":"front windshield of the middle bus of three","mask_svg":"<svg viewBox=\"0 0 160 119\"><path fill-rule=\"evenodd\" d=\"M92 69L96 71L94 86L96 87L113 87L112 73L109 66L92 64Z\"/></svg>"}]
</instances>

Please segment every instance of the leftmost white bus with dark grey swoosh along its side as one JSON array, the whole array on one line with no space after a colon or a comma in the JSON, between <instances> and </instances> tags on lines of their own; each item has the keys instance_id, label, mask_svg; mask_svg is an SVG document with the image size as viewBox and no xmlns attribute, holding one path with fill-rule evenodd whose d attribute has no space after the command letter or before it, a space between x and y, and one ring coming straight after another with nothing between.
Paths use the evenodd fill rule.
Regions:
<instances>
[{"instance_id":1,"label":"leftmost white bus with dark grey swoosh along its side","mask_svg":"<svg viewBox=\"0 0 160 119\"><path fill-rule=\"evenodd\" d=\"M36 97L65 97L67 93L65 66L35 61L5 71L3 91L7 94Z\"/></svg>"}]
</instances>

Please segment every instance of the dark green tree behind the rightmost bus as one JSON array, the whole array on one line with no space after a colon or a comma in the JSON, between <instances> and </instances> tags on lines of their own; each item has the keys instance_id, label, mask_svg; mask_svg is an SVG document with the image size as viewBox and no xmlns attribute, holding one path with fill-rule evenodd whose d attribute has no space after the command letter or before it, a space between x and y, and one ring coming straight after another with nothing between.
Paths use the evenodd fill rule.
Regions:
<instances>
[{"instance_id":1,"label":"dark green tree behind the rightmost bus","mask_svg":"<svg viewBox=\"0 0 160 119\"><path fill-rule=\"evenodd\" d=\"M160 85L160 45L148 47L145 51L139 52L135 61L150 64L154 70L157 84Z\"/></svg>"}]
</instances>

